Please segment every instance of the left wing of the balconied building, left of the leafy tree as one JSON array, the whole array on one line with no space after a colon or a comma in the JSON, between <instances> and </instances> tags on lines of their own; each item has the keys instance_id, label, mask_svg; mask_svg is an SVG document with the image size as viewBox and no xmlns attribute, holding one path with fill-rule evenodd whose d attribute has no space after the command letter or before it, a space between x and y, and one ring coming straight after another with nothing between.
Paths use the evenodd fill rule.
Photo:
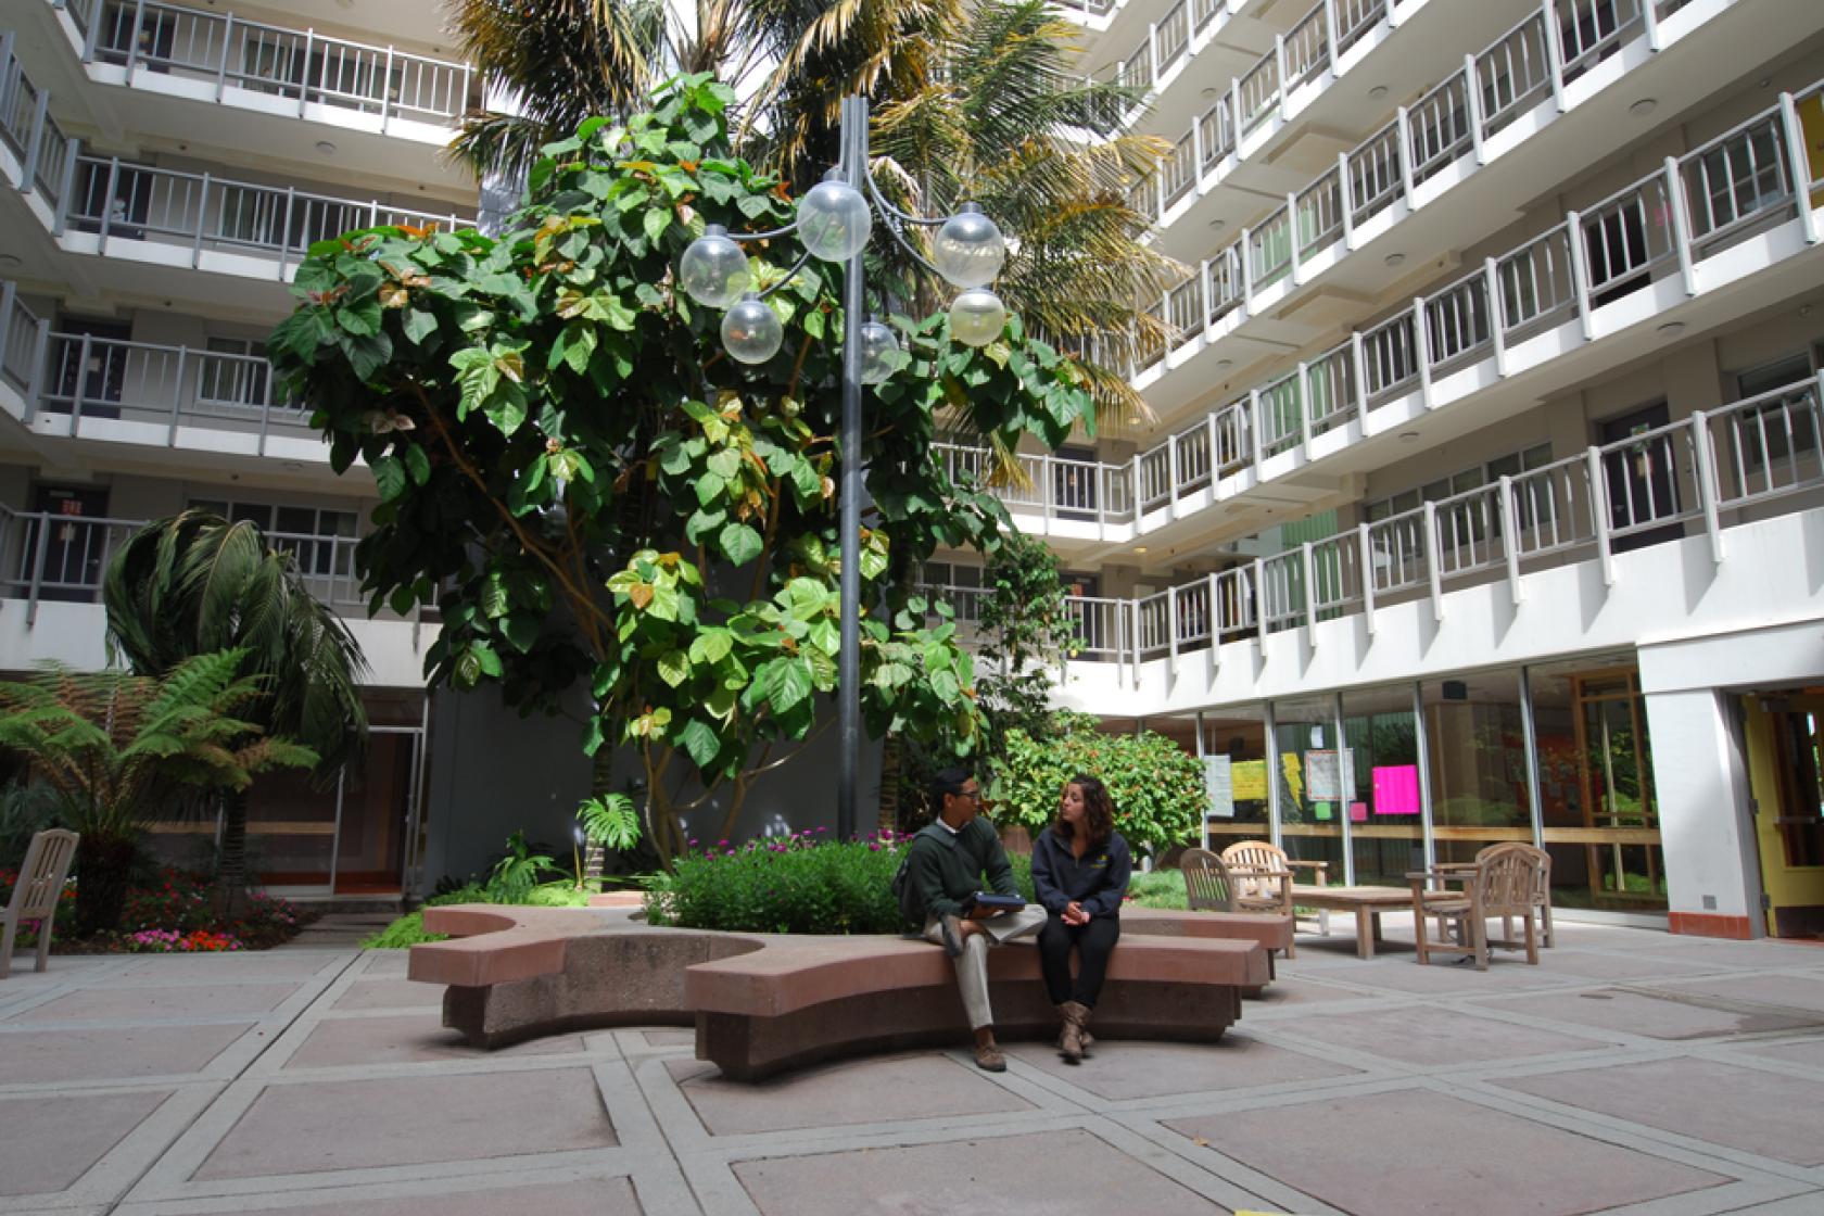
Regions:
<instances>
[{"instance_id":1,"label":"left wing of the balconied building, left of the leafy tree","mask_svg":"<svg viewBox=\"0 0 1824 1216\"><path fill-rule=\"evenodd\" d=\"M372 667L365 771L257 786L250 857L290 893L396 897L425 871L436 625L368 620L372 479L330 472L263 343L310 242L472 222L443 148L474 80L441 26L434 0L0 4L0 667L104 662L95 593L135 523L257 521ZM186 859L213 831L155 839Z\"/></svg>"}]
</instances>

